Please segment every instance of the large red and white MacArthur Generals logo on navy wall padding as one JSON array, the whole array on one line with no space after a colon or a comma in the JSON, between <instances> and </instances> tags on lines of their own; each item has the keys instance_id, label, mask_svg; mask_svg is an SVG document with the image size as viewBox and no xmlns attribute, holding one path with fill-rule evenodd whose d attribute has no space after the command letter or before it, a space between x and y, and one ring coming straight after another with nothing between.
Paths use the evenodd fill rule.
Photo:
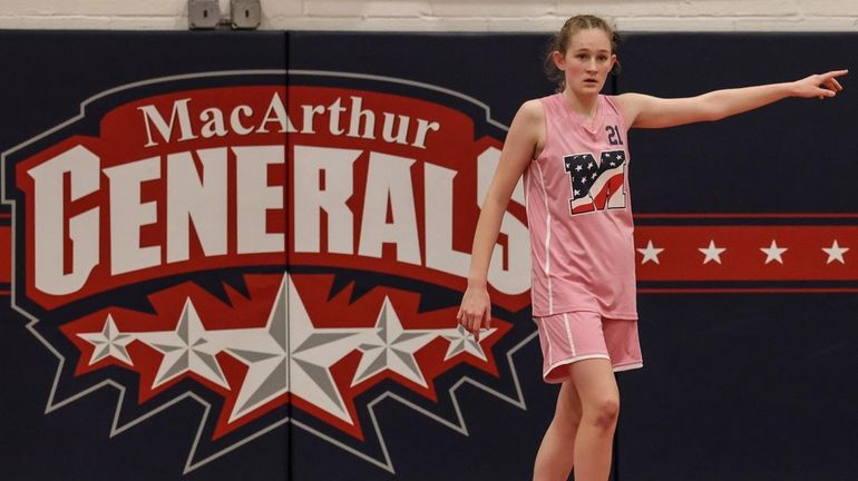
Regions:
<instances>
[{"instance_id":1,"label":"large red and white MacArthur Generals logo on navy wall padding","mask_svg":"<svg viewBox=\"0 0 858 481\"><path fill-rule=\"evenodd\" d=\"M193 400L205 412L185 472L279 429L392 472L380 400L454 435L461 385L525 409L523 202L489 273L493 327L477 342L456 322L504 130L461 94L331 72L87 99L3 154L12 305L58 359L47 413L106 389L105 435L135 435Z\"/></svg>"}]
</instances>

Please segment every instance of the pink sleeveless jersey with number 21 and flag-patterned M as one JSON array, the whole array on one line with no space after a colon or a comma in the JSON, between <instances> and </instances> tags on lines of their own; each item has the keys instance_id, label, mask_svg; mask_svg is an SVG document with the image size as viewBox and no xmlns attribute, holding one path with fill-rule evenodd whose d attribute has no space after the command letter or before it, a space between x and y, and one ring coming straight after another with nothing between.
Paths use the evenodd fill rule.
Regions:
<instances>
[{"instance_id":1,"label":"pink sleeveless jersey with number 21 and flag-patterned M","mask_svg":"<svg viewBox=\"0 0 858 481\"><path fill-rule=\"evenodd\" d=\"M563 95L540 99L546 139L524 175L533 315L637 318L626 128L614 99L592 121Z\"/></svg>"}]
</instances>

